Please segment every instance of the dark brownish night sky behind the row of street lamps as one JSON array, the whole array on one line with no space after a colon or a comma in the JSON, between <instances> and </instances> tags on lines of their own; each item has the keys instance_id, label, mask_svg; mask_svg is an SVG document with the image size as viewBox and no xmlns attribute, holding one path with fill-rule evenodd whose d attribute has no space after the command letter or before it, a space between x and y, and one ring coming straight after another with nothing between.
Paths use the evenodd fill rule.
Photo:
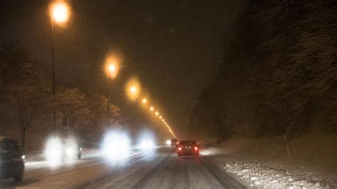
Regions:
<instances>
[{"instance_id":1,"label":"dark brownish night sky behind the row of street lamps","mask_svg":"<svg viewBox=\"0 0 337 189\"><path fill-rule=\"evenodd\" d=\"M179 134L201 90L223 63L223 41L232 38L243 1L69 1L70 21L55 26L58 85L104 92L103 63L113 52L123 58L122 65L132 66L111 81L112 102L126 114L122 90L136 76ZM26 45L50 70L48 4L0 0L0 42Z\"/></svg>"}]
</instances>

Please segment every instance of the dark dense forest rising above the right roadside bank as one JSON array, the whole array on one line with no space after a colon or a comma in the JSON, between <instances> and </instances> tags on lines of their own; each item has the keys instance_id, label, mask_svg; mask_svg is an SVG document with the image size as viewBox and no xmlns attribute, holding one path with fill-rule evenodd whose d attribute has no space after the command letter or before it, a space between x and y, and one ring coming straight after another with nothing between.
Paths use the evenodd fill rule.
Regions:
<instances>
[{"instance_id":1,"label":"dark dense forest rising above the right roadside bank","mask_svg":"<svg viewBox=\"0 0 337 189\"><path fill-rule=\"evenodd\" d=\"M198 134L288 137L337 130L336 1L250 1L198 97Z\"/></svg>"}]
</instances>

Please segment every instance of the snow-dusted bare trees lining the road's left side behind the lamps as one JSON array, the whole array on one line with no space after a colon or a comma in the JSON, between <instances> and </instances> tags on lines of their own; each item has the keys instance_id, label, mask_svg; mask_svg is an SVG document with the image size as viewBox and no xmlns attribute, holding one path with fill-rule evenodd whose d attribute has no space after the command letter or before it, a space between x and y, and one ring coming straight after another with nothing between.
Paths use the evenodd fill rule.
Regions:
<instances>
[{"instance_id":1,"label":"snow-dusted bare trees lining the road's left side behind the lamps","mask_svg":"<svg viewBox=\"0 0 337 189\"><path fill-rule=\"evenodd\" d=\"M111 103L110 103L111 104ZM56 129L70 131L89 142L100 141L107 129L107 97L100 92L58 85L55 104L46 70L18 45L0 48L0 136L31 141L29 148L41 148L43 139ZM119 107L110 105L110 123L121 119ZM68 118L67 126L63 118ZM20 133L18 135L18 133Z\"/></svg>"}]
</instances>

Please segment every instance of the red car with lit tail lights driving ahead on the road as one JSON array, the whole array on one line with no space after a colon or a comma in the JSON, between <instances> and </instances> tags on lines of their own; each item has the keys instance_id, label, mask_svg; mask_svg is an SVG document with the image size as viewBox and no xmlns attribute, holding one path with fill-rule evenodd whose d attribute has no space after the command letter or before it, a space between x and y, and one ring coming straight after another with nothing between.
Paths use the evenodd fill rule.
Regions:
<instances>
[{"instance_id":1,"label":"red car with lit tail lights driving ahead on the road","mask_svg":"<svg viewBox=\"0 0 337 189\"><path fill-rule=\"evenodd\" d=\"M200 146L196 143L196 141L191 140L183 140L180 141L177 147L177 155L180 156L199 156L199 148Z\"/></svg>"}]
</instances>

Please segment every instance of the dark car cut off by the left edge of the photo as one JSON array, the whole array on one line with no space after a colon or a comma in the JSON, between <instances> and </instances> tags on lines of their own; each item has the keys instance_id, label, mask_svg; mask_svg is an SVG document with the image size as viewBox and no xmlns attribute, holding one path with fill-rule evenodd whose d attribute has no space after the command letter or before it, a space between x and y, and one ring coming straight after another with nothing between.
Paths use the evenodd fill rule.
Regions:
<instances>
[{"instance_id":1,"label":"dark car cut off by the left edge of the photo","mask_svg":"<svg viewBox=\"0 0 337 189\"><path fill-rule=\"evenodd\" d=\"M23 180L25 169L24 155L21 146L10 137L0 136L0 178Z\"/></svg>"}]
</instances>

